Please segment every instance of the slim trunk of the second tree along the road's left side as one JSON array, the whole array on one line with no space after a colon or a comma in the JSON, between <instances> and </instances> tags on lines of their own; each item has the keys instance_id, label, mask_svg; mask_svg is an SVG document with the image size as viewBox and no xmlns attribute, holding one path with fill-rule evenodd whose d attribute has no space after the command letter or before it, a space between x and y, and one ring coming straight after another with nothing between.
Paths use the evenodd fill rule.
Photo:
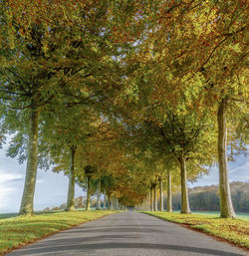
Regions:
<instances>
[{"instance_id":1,"label":"slim trunk of the second tree along the road's left side","mask_svg":"<svg viewBox=\"0 0 249 256\"><path fill-rule=\"evenodd\" d=\"M68 188L68 201L66 211L75 210L75 160L76 160L76 148L72 146L71 150L71 167L70 167L70 177L69 177L69 188Z\"/></svg>"}]
</instances>

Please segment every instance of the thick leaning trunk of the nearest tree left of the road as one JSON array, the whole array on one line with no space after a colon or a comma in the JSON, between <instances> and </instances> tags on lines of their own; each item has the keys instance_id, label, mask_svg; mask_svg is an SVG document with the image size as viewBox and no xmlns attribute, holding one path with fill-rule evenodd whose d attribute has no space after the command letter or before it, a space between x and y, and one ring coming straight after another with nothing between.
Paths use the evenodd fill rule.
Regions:
<instances>
[{"instance_id":1,"label":"thick leaning trunk of the nearest tree left of the road","mask_svg":"<svg viewBox=\"0 0 249 256\"><path fill-rule=\"evenodd\" d=\"M26 166L26 177L24 183L23 197L19 209L19 215L30 215L34 213L34 194L37 176L38 157L38 125L39 111L31 110L28 161Z\"/></svg>"}]
</instances>

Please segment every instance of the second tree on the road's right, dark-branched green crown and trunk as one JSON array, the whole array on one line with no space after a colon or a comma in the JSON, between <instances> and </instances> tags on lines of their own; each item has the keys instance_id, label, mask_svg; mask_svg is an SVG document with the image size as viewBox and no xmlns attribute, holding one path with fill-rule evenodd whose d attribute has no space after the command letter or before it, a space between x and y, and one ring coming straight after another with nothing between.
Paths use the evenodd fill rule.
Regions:
<instances>
[{"instance_id":1,"label":"second tree on the road's right, dark-branched green crown and trunk","mask_svg":"<svg viewBox=\"0 0 249 256\"><path fill-rule=\"evenodd\" d=\"M144 128L150 133L151 140L156 143L157 148L161 152L164 151L164 155L171 152L178 159L181 169L181 212L190 213L186 160L195 157L209 164L212 162L212 126L205 114L201 120L198 119L198 115L191 112L176 114L175 111L169 110L164 115L165 118L146 121ZM205 149L207 144L210 148Z\"/></svg>"}]
</instances>

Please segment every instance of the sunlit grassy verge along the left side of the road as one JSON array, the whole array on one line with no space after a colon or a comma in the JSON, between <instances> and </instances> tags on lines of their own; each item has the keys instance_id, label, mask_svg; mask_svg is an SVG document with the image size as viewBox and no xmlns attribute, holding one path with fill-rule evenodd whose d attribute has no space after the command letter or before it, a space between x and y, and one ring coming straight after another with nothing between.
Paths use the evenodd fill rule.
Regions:
<instances>
[{"instance_id":1,"label":"sunlit grassy verge along the left side of the road","mask_svg":"<svg viewBox=\"0 0 249 256\"><path fill-rule=\"evenodd\" d=\"M0 219L0 255L39 238L117 211L51 212Z\"/></svg>"}]
</instances>

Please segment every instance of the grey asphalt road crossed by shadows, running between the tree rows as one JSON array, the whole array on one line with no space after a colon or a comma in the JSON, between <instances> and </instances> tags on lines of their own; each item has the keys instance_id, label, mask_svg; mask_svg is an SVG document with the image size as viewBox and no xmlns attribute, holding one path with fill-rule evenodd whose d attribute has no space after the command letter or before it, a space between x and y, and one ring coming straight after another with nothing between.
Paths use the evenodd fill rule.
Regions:
<instances>
[{"instance_id":1,"label":"grey asphalt road crossed by shadows, running between the tree rows","mask_svg":"<svg viewBox=\"0 0 249 256\"><path fill-rule=\"evenodd\" d=\"M247 252L210 236L136 212L57 233L9 256L239 256Z\"/></svg>"}]
</instances>

